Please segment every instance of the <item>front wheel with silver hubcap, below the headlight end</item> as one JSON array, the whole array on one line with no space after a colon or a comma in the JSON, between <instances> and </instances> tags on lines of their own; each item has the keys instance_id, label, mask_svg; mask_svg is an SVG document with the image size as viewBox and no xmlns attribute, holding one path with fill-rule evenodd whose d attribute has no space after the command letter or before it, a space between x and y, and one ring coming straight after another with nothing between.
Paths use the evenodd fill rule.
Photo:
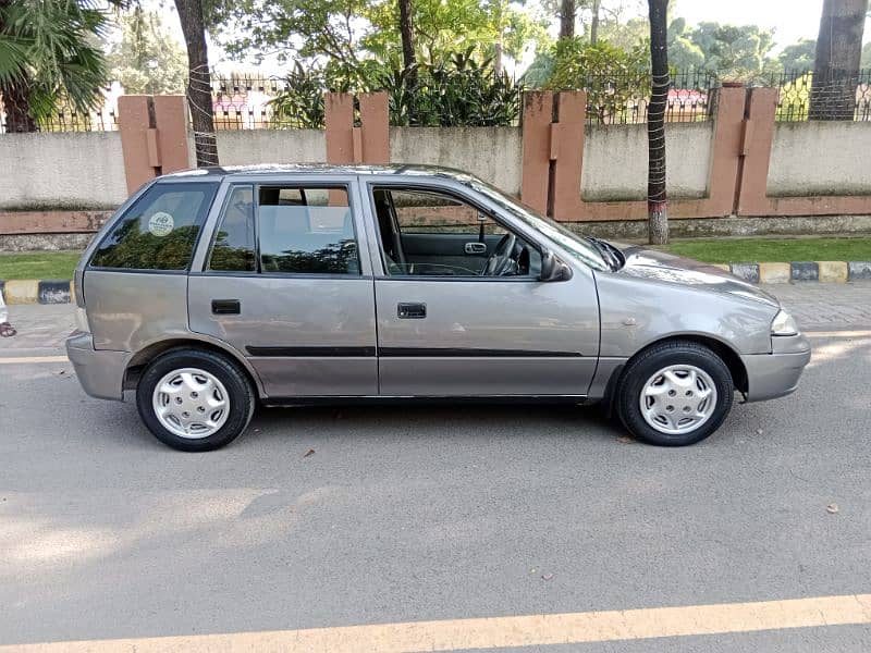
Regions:
<instances>
[{"instance_id":1,"label":"front wheel with silver hubcap, below the headlight end","mask_svg":"<svg viewBox=\"0 0 871 653\"><path fill-rule=\"evenodd\" d=\"M698 343L673 341L629 361L616 386L615 407L638 440L686 446L720 428L734 396L732 373L716 354Z\"/></svg>"}]
</instances>

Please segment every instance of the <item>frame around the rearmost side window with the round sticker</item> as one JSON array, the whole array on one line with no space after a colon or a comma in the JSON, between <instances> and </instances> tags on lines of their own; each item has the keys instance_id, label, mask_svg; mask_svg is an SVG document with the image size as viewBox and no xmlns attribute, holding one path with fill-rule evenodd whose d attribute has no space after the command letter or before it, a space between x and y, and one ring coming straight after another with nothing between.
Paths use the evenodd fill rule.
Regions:
<instances>
[{"instance_id":1,"label":"frame around the rearmost side window with the round sticker","mask_svg":"<svg viewBox=\"0 0 871 653\"><path fill-rule=\"evenodd\" d=\"M213 186L214 192L211 195L211 199L209 200L208 206L204 209L204 217L203 221L199 225L199 231L197 232L197 236L194 239L191 248L191 257L187 261L187 266L185 268L179 268L177 270L156 270L154 268L108 268L105 266L95 266L93 263L94 257L97 256L97 252L100 250L100 247L106 242L106 239L114 232L115 227L118 227L119 223L123 222L128 215L130 212L135 209L139 202L157 186L172 186L177 184L200 184L204 186ZM211 219L212 211L214 210L216 202L219 197L221 197L221 193L223 189L223 183L221 180L217 178L203 178L203 177L195 177L195 176L184 176L184 177L171 177L171 178L156 178L147 184L144 184L134 195L132 195L128 200L119 209L118 214L107 222L103 225L103 229L98 234L98 237L94 239L94 242L88 246L83 255L83 259L87 262L82 268L82 272L119 272L119 273L126 273L126 274L175 274L175 275L188 275L191 274L192 270L195 268L195 263L197 261L197 257L199 255L200 247L204 243L204 235L209 229L209 221Z\"/></svg>"}]
</instances>

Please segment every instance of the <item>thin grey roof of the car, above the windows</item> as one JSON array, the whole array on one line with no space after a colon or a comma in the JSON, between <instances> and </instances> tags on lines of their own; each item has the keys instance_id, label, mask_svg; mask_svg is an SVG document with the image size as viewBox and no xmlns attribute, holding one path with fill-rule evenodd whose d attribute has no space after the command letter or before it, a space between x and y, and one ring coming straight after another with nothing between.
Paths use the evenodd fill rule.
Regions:
<instances>
[{"instance_id":1,"label":"thin grey roof of the car, above the windows","mask_svg":"<svg viewBox=\"0 0 871 653\"><path fill-rule=\"evenodd\" d=\"M291 164L258 164L258 165L211 165L192 170L182 170L162 175L163 178L194 177L194 176L256 176L274 174L361 174L372 176L439 176L468 183L476 178L473 175L440 165L421 164L394 164L368 165L363 163L291 163Z\"/></svg>"}]
</instances>

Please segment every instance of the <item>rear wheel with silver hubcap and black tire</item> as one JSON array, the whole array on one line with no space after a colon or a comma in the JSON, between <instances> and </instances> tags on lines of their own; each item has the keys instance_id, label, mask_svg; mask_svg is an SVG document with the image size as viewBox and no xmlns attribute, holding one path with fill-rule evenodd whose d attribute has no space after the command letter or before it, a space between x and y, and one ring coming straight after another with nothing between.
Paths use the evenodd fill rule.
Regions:
<instances>
[{"instance_id":1,"label":"rear wheel with silver hubcap and black tire","mask_svg":"<svg viewBox=\"0 0 871 653\"><path fill-rule=\"evenodd\" d=\"M167 392L156 393L158 384ZM230 444L247 428L255 404L254 389L240 366L203 349L162 354L136 387L136 407L145 426L181 452L209 452Z\"/></svg>"}]
</instances>

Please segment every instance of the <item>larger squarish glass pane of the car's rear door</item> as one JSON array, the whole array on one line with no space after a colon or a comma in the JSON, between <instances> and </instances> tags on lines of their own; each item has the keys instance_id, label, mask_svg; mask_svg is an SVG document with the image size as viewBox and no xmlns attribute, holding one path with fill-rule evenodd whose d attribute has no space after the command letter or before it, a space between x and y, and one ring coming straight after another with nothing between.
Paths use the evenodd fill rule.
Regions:
<instances>
[{"instance_id":1,"label":"larger squarish glass pane of the car's rear door","mask_svg":"<svg viewBox=\"0 0 871 653\"><path fill-rule=\"evenodd\" d=\"M260 186L257 225L265 273L360 273L345 187Z\"/></svg>"}]
</instances>

